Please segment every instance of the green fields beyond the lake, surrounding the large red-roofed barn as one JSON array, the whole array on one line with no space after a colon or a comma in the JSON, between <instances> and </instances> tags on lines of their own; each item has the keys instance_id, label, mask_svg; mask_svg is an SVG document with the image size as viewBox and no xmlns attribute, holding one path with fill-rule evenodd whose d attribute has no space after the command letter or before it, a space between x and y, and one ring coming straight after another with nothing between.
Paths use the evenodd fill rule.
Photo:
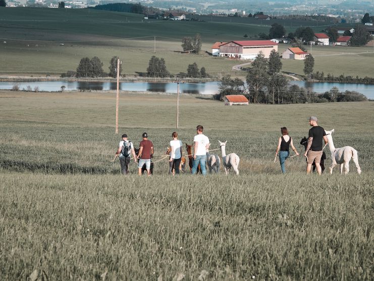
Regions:
<instances>
[{"instance_id":1,"label":"green fields beyond the lake, surrounding the large red-roofed barn","mask_svg":"<svg viewBox=\"0 0 374 281\"><path fill-rule=\"evenodd\" d=\"M245 76L244 72L232 71L232 67L242 61L212 58L205 52L211 52L211 45L216 41L253 39L260 32L268 33L275 21L259 23L254 19L226 17L211 17L210 20L202 17L204 22L146 21L138 14L92 9L0 7L0 13L0 37L7 41L0 47L0 74L36 77L59 76L75 70L81 58L94 56L100 58L106 72L110 59L119 56L123 61L123 72L134 76L146 72L153 55L164 58L173 74L186 72L188 65L196 62L199 68L205 67L214 77ZM316 32L319 27L326 28L315 26L315 22L294 22L293 25L289 21L280 22L287 27L287 32L300 25L310 25ZM202 52L180 54L182 37L196 33L201 34ZM248 37L243 37L244 34ZM289 46L280 44L279 53ZM312 54L315 56L314 70L326 75L372 77L374 73L368 69L368 60L374 56L372 47L313 46ZM303 75L303 61L282 60L282 63L283 71Z\"/></svg>"}]
</instances>

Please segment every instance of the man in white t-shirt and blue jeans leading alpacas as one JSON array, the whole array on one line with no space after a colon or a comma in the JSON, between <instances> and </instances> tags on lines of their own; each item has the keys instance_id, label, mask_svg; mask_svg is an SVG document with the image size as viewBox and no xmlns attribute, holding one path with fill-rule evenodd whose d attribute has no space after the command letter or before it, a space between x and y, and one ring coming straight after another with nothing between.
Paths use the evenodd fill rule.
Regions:
<instances>
[{"instance_id":1,"label":"man in white t-shirt and blue jeans leading alpacas","mask_svg":"<svg viewBox=\"0 0 374 281\"><path fill-rule=\"evenodd\" d=\"M193 138L192 174L196 174L197 166L200 164L201 173L206 175L206 150L209 149L209 138L202 133L203 129L201 125L198 125L196 127L197 135Z\"/></svg>"}]
</instances>

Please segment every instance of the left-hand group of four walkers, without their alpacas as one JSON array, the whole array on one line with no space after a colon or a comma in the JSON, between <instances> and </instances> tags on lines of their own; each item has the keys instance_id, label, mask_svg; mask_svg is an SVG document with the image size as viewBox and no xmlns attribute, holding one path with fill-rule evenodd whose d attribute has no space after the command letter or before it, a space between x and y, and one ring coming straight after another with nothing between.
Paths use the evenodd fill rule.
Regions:
<instances>
[{"instance_id":1,"label":"left-hand group of four walkers, without their alpacas","mask_svg":"<svg viewBox=\"0 0 374 281\"><path fill-rule=\"evenodd\" d=\"M192 164L192 174L197 171L198 165L200 165L201 173L206 175L206 150L209 149L209 138L204 135L204 128L201 125L196 127L196 135L193 139L193 164ZM178 139L178 133L172 133L173 139L170 141L170 169L169 173L172 171L172 167L175 169L175 173L179 174L179 165L182 159L182 142ZM138 174L142 174L142 167L146 166L147 174L151 175L151 156L153 154L153 144L148 139L148 134L144 132L142 134L142 141L139 144L139 151L135 152L134 144L130 142L127 134L122 135L122 140L119 143L118 150L115 156L119 156L121 171L124 175L129 173L129 164L131 160L131 155L136 163L138 163Z\"/></svg>"}]
</instances>

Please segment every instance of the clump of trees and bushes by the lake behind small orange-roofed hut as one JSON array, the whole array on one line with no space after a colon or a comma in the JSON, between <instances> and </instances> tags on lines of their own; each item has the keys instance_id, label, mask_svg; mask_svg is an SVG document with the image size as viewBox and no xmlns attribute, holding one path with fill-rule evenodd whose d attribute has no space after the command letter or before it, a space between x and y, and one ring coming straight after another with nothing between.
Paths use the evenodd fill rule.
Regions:
<instances>
[{"instance_id":1,"label":"clump of trees and bushes by the lake behind small orange-roofed hut","mask_svg":"<svg viewBox=\"0 0 374 281\"><path fill-rule=\"evenodd\" d=\"M304 73L310 75L313 70L314 59L308 55L304 60ZM330 92L318 95L310 89L297 85L290 85L286 77L280 73L282 62L278 52L273 50L268 60L260 53L252 63L252 67L245 69L246 83L239 78L232 79L230 75L222 78L219 93L214 96L223 100L227 95L244 95L251 103L264 104L295 104L295 103L323 103L366 101L366 97L355 91L339 92L333 88Z\"/></svg>"}]
</instances>

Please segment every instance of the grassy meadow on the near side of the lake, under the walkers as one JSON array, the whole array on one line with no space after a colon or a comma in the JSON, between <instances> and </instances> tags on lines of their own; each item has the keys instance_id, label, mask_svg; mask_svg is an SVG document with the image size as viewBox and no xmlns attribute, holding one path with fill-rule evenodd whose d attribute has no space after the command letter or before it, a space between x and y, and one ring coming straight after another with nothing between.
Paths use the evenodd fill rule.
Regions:
<instances>
[{"instance_id":1,"label":"grassy meadow on the near side of the lake, under the walkers","mask_svg":"<svg viewBox=\"0 0 374 281\"><path fill-rule=\"evenodd\" d=\"M139 177L134 162L129 176L110 162L115 96L0 91L1 279L372 279L373 103L226 107L182 95L179 138L191 144L202 124L211 149L228 140L240 156L240 175L172 177L163 160ZM121 93L120 134L136 145L147 131L154 160L175 115L175 95ZM346 176L306 175L302 157L280 173L280 127L302 152L310 115L335 128L336 147L357 149L361 175L353 163Z\"/></svg>"}]
</instances>

